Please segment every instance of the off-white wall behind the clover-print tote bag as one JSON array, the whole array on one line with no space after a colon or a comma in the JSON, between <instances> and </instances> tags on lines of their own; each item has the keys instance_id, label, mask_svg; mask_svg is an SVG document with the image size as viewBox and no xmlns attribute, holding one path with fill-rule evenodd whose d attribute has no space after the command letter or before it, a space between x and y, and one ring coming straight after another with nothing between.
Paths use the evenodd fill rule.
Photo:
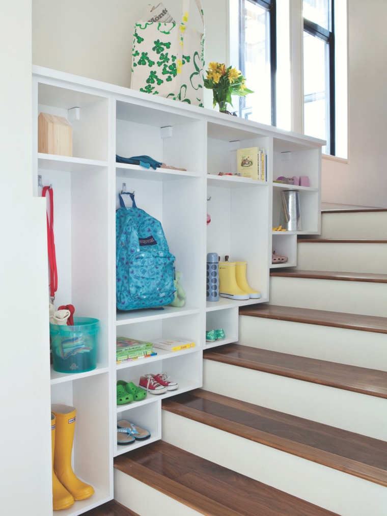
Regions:
<instances>
[{"instance_id":1,"label":"off-white wall behind the clover-print tote bag","mask_svg":"<svg viewBox=\"0 0 387 516\"><path fill-rule=\"evenodd\" d=\"M33 0L33 63L130 87L133 28L151 0ZM157 5L159 2L155 2ZM182 0L164 0L175 20ZM206 62L225 62L227 0L202 0ZM201 29L191 1L190 24ZM205 91L212 107L211 91Z\"/></svg>"}]
</instances>

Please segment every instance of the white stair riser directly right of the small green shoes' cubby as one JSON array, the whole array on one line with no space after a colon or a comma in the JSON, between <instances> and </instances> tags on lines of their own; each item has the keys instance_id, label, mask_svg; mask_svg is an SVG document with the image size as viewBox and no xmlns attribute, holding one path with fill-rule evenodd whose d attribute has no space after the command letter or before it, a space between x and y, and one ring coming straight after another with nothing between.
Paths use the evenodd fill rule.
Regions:
<instances>
[{"instance_id":1,"label":"white stair riser directly right of the small green shoes' cubby","mask_svg":"<svg viewBox=\"0 0 387 516\"><path fill-rule=\"evenodd\" d=\"M239 316L239 344L387 371L387 335Z\"/></svg>"}]
</instances>

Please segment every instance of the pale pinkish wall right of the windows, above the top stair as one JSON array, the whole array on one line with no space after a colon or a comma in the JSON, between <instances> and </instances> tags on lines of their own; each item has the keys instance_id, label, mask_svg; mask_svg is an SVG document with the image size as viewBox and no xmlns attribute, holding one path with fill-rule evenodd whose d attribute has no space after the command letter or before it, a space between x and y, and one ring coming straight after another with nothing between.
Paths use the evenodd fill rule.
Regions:
<instances>
[{"instance_id":1,"label":"pale pinkish wall right of the windows, above the top stair","mask_svg":"<svg viewBox=\"0 0 387 516\"><path fill-rule=\"evenodd\" d=\"M348 0L348 164L322 160L322 201L387 207L387 2Z\"/></svg>"}]
</instances>

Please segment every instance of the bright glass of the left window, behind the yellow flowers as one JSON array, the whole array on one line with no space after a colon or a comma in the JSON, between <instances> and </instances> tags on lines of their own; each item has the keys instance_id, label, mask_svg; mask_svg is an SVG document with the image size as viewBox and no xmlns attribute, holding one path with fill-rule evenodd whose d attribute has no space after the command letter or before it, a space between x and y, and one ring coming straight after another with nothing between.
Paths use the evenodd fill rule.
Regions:
<instances>
[{"instance_id":1,"label":"bright glass of the left window, behind the yellow flowers","mask_svg":"<svg viewBox=\"0 0 387 516\"><path fill-rule=\"evenodd\" d=\"M269 14L258 4L242 0L240 9L240 67L254 91L240 99L240 116L271 124ZM234 107L237 108L237 100Z\"/></svg>"}]
</instances>

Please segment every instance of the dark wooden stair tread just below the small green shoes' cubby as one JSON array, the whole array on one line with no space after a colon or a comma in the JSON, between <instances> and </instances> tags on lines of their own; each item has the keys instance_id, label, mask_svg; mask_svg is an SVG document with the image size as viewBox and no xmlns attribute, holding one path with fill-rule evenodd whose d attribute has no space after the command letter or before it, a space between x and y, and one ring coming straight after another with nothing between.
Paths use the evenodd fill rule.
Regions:
<instances>
[{"instance_id":1,"label":"dark wooden stair tread just below the small green shoes' cubby","mask_svg":"<svg viewBox=\"0 0 387 516\"><path fill-rule=\"evenodd\" d=\"M385 371L298 357L240 344L227 344L205 350L203 358L387 399Z\"/></svg>"}]
</instances>

